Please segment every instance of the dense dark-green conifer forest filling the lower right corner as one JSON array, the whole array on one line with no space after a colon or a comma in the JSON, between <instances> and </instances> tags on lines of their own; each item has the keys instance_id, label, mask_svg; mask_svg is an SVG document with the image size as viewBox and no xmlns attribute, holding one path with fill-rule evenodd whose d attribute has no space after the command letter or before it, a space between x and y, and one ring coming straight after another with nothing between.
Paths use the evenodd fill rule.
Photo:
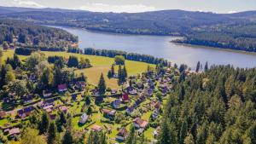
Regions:
<instances>
[{"instance_id":1,"label":"dense dark-green conifer forest filling the lower right corner","mask_svg":"<svg viewBox=\"0 0 256 144\"><path fill-rule=\"evenodd\" d=\"M177 79L166 103L158 143L256 142L255 68L212 66Z\"/></svg>"}]
</instances>

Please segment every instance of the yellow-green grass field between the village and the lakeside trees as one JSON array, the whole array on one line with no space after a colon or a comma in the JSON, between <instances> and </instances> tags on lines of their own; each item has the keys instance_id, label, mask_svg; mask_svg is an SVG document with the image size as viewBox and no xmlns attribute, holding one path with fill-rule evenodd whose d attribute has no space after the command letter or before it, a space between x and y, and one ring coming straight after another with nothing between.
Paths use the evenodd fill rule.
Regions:
<instances>
[{"instance_id":1,"label":"yellow-green grass field between the village and the lakeside trees","mask_svg":"<svg viewBox=\"0 0 256 144\"><path fill-rule=\"evenodd\" d=\"M103 57L103 56L96 56L96 55L80 55L80 54L73 54L67 52L42 52L44 55L47 56L63 56L68 58L70 55L76 55L79 59L81 57L87 58L90 60L90 63L93 67L77 70L76 73L79 74L84 72L84 74L88 77L88 82L90 84L96 85L98 84L99 78L101 73L103 73L107 87L112 89L118 89L119 85L117 84L117 79L108 79L108 70L110 69L111 65L113 64L113 58ZM7 57L12 57L14 55L14 50L8 50L3 52L3 60L6 60ZM20 60L25 60L26 56L20 55ZM128 75L137 75L138 73L145 72L147 67L154 66L151 64L147 64L144 62L132 61L132 60L125 60L125 66L128 72ZM118 70L118 66L115 67L115 70Z\"/></svg>"}]
</instances>

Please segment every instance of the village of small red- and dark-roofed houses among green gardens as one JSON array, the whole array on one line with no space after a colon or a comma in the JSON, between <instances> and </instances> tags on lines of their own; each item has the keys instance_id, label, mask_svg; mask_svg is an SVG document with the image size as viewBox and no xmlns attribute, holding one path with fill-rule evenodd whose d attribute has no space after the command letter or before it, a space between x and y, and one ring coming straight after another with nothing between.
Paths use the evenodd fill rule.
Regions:
<instances>
[{"instance_id":1,"label":"village of small red- and dark-roofed houses among green gardens","mask_svg":"<svg viewBox=\"0 0 256 144\"><path fill-rule=\"evenodd\" d=\"M108 88L104 95L84 81L59 84L58 89L44 89L42 95L26 95L18 101L14 99L15 94L9 93L2 103L0 129L4 136L14 139L20 136L22 124L33 114L46 112L49 118L55 119L62 112L73 116L75 130L104 131L111 143L124 142L131 124L138 135L154 141L160 130L162 107L176 73L174 68L163 69L158 74L150 71L130 76L120 89ZM19 106L12 111L3 110L11 105Z\"/></svg>"}]
</instances>

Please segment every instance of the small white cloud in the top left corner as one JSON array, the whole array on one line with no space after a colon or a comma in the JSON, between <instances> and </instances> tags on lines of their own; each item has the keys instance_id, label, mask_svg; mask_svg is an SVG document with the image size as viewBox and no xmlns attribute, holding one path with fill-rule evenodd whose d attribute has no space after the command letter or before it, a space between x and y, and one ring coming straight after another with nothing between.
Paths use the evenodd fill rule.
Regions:
<instances>
[{"instance_id":1,"label":"small white cloud in the top left corner","mask_svg":"<svg viewBox=\"0 0 256 144\"><path fill-rule=\"evenodd\" d=\"M3 6L26 7L26 8L45 8L44 5L30 0L3 0Z\"/></svg>"}]
</instances>

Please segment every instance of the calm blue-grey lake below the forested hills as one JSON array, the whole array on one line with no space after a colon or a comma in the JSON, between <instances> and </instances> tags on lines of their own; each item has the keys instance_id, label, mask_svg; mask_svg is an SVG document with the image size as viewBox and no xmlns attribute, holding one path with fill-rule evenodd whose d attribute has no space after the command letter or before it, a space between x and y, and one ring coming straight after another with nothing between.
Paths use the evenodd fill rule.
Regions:
<instances>
[{"instance_id":1,"label":"calm blue-grey lake below the forested hills","mask_svg":"<svg viewBox=\"0 0 256 144\"><path fill-rule=\"evenodd\" d=\"M79 36L79 48L117 49L126 52L154 55L172 63L187 64L195 69L197 61L209 65L230 64L239 67L255 67L256 55L225 49L212 49L200 46L170 43L173 38L166 36L121 35L102 32L89 32L79 28L59 27Z\"/></svg>"}]
</instances>

